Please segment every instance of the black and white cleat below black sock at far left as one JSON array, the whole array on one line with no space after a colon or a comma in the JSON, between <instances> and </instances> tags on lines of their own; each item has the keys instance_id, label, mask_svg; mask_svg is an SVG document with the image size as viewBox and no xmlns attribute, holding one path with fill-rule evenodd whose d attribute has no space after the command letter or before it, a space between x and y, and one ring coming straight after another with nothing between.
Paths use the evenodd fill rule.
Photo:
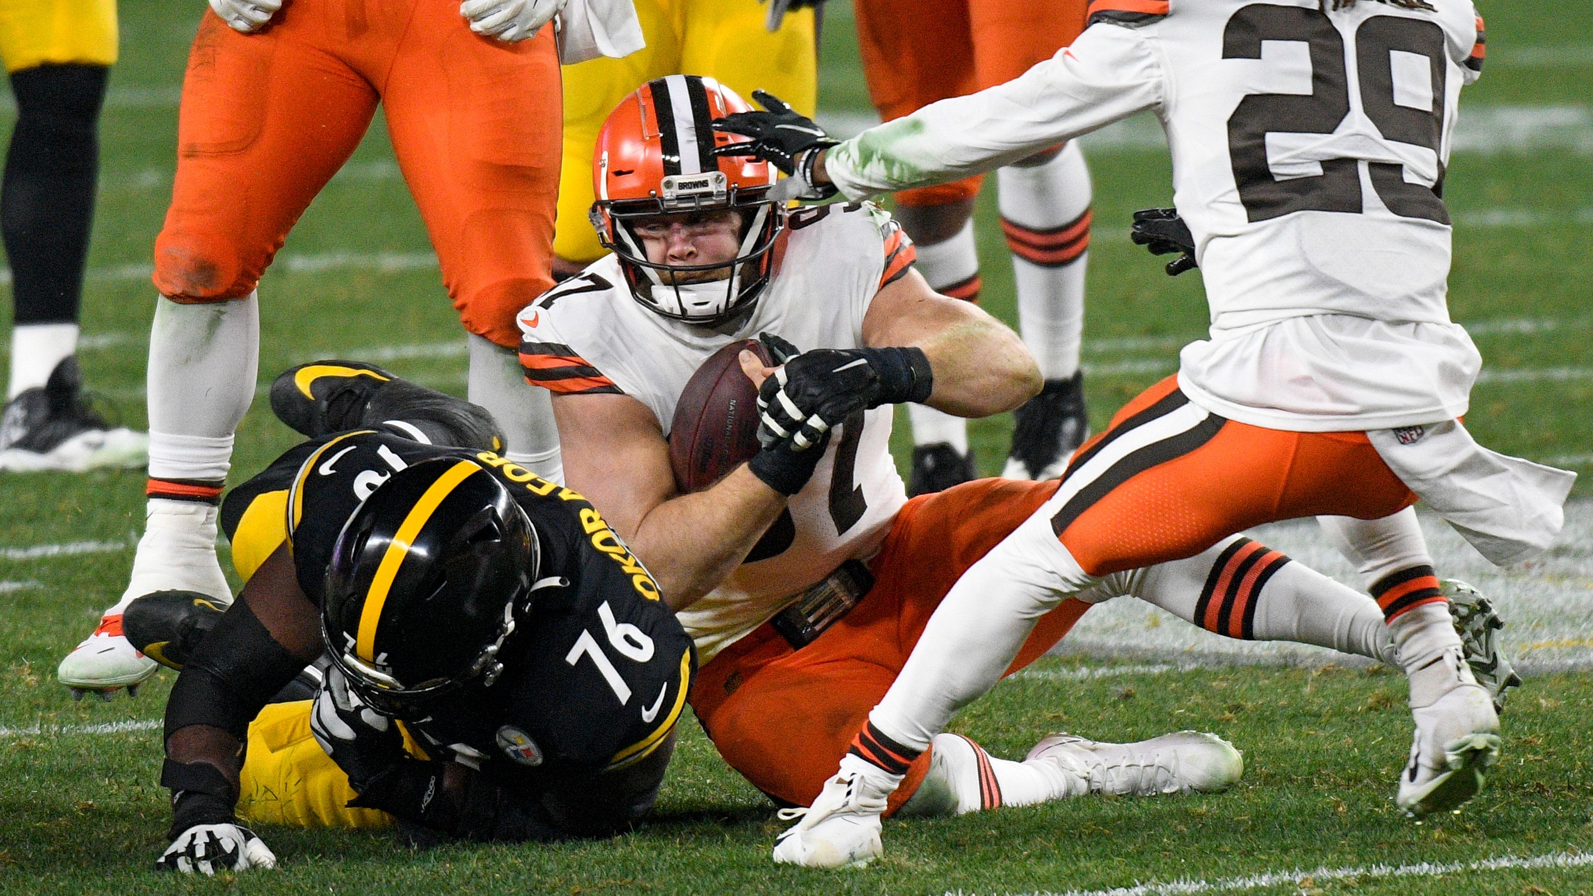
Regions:
<instances>
[{"instance_id":1,"label":"black and white cleat below black sock at far left","mask_svg":"<svg viewBox=\"0 0 1593 896\"><path fill-rule=\"evenodd\" d=\"M107 423L83 395L78 360L68 356L41 387L27 388L0 414L0 469L81 473L99 466L143 466L150 438Z\"/></svg>"}]
</instances>

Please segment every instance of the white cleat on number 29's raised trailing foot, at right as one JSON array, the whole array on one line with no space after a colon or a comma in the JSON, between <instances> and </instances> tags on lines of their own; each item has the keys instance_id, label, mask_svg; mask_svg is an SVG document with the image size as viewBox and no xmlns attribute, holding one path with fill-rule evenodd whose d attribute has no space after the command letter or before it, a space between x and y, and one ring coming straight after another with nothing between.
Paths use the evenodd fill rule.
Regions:
<instances>
[{"instance_id":1,"label":"white cleat on number 29's raised trailing foot, at right","mask_svg":"<svg viewBox=\"0 0 1593 896\"><path fill-rule=\"evenodd\" d=\"M1410 818L1459 812L1499 761L1499 715L1478 684L1461 683L1434 703L1411 708L1416 737L1394 801Z\"/></svg>"}]
</instances>

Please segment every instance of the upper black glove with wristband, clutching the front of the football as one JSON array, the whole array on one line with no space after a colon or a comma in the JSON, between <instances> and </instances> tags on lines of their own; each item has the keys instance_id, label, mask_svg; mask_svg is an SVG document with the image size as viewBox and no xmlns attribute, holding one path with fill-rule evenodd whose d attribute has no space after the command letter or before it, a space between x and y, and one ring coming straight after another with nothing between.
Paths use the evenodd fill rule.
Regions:
<instances>
[{"instance_id":1,"label":"upper black glove with wristband, clutching the front of the football","mask_svg":"<svg viewBox=\"0 0 1593 896\"><path fill-rule=\"evenodd\" d=\"M922 349L814 349L785 361L758 388L758 442L812 446L857 411L924 401L935 387Z\"/></svg>"}]
</instances>

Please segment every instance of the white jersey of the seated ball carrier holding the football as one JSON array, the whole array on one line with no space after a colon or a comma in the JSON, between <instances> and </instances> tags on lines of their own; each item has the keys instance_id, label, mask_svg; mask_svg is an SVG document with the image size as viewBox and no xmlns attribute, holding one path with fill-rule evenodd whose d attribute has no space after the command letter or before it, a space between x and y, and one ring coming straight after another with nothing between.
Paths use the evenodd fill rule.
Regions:
<instances>
[{"instance_id":1,"label":"white jersey of the seated ball carrier holding the football","mask_svg":"<svg viewBox=\"0 0 1593 896\"><path fill-rule=\"evenodd\" d=\"M863 315L879 288L905 274L913 245L871 204L792 215L776 267L750 317L734 329L661 317L637 302L615 256L550 290L521 312L527 379L566 395L628 395L669 434L680 390L718 349L773 333L808 349L860 349ZM878 552L906 489L890 457L892 409L847 422L808 485L718 589L679 614L706 664L847 559ZM602 508L599 508L602 509Z\"/></svg>"}]
</instances>

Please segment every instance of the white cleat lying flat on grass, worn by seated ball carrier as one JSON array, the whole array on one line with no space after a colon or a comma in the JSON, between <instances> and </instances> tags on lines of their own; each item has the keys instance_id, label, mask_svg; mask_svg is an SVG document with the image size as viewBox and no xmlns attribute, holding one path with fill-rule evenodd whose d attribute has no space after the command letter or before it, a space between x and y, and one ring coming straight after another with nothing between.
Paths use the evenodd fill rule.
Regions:
<instances>
[{"instance_id":1,"label":"white cleat lying flat on grass, worn by seated ball carrier","mask_svg":"<svg viewBox=\"0 0 1593 896\"><path fill-rule=\"evenodd\" d=\"M1136 743L1101 743L1053 734L1029 751L1026 761L1035 759L1088 785L1086 793L1109 796L1219 793L1244 775L1244 756L1231 743L1215 734L1193 730Z\"/></svg>"}]
</instances>

